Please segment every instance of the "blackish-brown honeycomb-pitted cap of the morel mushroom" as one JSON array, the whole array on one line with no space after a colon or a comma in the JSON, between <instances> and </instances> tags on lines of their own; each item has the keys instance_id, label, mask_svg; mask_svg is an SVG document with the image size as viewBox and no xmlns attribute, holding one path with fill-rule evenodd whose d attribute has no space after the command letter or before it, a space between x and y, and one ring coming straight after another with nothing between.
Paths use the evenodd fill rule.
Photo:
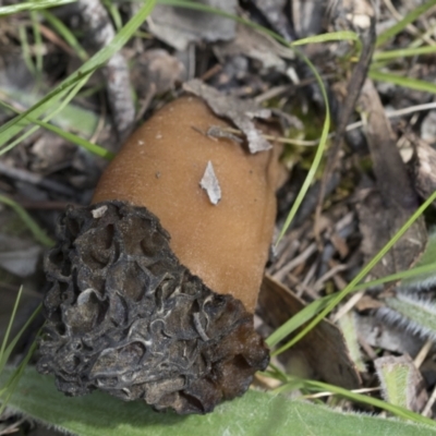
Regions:
<instances>
[{"instance_id":1,"label":"blackish-brown honeycomb-pitted cap of the morel mushroom","mask_svg":"<svg viewBox=\"0 0 436 436\"><path fill-rule=\"evenodd\" d=\"M206 413L267 366L253 315L181 265L145 207L69 207L45 259L50 289L37 368L55 374L61 391L99 388L157 410Z\"/></svg>"}]
</instances>

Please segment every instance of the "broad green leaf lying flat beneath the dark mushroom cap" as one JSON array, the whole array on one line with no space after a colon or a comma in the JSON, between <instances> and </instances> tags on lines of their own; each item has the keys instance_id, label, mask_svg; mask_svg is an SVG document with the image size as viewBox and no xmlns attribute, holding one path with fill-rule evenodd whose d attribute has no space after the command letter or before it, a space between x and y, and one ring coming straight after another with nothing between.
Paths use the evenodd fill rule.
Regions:
<instances>
[{"instance_id":1,"label":"broad green leaf lying flat beneath the dark mushroom cap","mask_svg":"<svg viewBox=\"0 0 436 436\"><path fill-rule=\"evenodd\" d=\"M156 413L141 401L124 403L97 391L65 397L57 391L51 377L38 375L31 367L9 405L51 426L86 436L436 435L434 427L425 425L340 413L253 390L204 416Z\"/></svg>"}]
</instances>

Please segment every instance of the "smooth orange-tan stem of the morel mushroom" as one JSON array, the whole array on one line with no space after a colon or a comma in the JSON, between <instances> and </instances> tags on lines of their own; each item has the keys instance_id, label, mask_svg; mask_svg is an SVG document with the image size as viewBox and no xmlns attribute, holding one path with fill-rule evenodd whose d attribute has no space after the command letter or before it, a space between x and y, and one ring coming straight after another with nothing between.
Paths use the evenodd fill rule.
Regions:
<instances>
[{"instance_id":1,"label":"smooth orange-tan stem of the morel mushroom","mask_svg":"<svg viewBox=\"0 0 436 436\"><path fill-rule=\"evenodd\" d=\"M253 313L276 216L277 150L251 155L231 140L208 137L211 125L230 123L196 97L165 106L124 144L93 203L147 207L170 233L180 262ZM221 187L217 205L199 186L208 161Z\"/></svg>"}]
</instances>

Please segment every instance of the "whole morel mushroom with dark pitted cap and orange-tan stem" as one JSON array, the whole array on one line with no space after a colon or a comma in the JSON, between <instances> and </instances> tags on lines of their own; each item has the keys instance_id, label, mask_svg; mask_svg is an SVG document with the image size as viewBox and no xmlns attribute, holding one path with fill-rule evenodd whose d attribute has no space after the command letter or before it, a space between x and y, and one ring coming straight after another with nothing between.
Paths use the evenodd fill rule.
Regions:
<instances>
[{"instance_id":1,"label":"whole morel mushroom with dark pitted cap and orange-tan stem","mask_svg":"<svg viewBox=\"0 0 436 436\"><path fill-rule=\"evenodd\" d=\"M88 207L69 207L45 261L38 371L157 410L206 413L268 364L253 328L276 213L277 152L251 155L194 97L167 105L109 165ZM199 181L211 164L222 198Z\"/></svg>"}]
</instances>

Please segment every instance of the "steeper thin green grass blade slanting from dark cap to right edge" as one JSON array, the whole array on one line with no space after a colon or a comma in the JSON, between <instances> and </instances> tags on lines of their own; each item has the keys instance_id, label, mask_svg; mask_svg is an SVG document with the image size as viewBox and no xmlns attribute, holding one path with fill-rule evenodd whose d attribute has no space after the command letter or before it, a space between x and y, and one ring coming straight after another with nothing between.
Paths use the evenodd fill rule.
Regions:
<instances>
[{"instance_id":1,"label":"steeper thin green grass blade slanting from dark cap to right edge","mask_svg":"<svg viewBox=\"0 0 436 436\"><path fill-rule=\"evenodd\" d=\"M353 280L340 292L338 292L334 299L331 299L327 306L306 326L295 335L288 343L280 349L271 353L277 355L288 350L302 339L308 331L311 331L322 319L325 318L348 294L354 291L355 286L364 279L364 277L373 269L373 267L385 256L385 254L395 245L395 243L405 233L409 227L423 214L423 211L436 199L436 192L434 192L412 215L411 218L401 227L401 229L390 239L390 241L371 259L371 262L362 268L362 270L354 277Z\"/></svg>"}]
</instances>

